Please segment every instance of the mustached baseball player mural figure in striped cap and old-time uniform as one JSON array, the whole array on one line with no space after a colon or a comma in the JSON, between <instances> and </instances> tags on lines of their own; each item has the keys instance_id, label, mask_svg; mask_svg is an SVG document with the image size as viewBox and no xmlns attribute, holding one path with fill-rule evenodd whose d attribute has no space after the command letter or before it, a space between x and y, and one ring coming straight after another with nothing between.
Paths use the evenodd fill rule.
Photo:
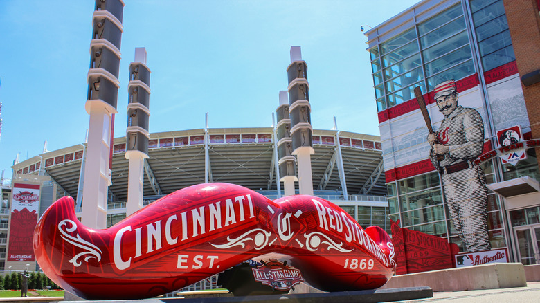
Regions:
<instances>
[{"instance_id":1,"label":"mustached baseball player mural figure in striped cap and old-time uniform","mask_svg":"<svg viewBox=\"0 0 540 303\"><path fill-rule=\"evenodd\" d=\"M468 252L489 250L487 188L484 172L473 165L483 151L484 124L475 109L458 105L454 80L435 86L435 101L444 118L427 137L429 158L442 179L453 225Z\"/></svg>"}]
</instances>

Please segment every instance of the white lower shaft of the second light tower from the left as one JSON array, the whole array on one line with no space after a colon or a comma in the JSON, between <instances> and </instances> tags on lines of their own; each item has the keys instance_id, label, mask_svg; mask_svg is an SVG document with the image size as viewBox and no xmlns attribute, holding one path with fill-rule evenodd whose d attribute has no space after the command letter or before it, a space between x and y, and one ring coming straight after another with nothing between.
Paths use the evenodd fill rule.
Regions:
<instances>
[{"instance_id":1,"label":"white lower shaft of the second light tower from the left","mask_svg":"<svg viewBox=\"0 0 540 303\"><path fill-rule=\"evenodd\" d=\"M144 168L145 158L148 158L148 155L138 150L131 150L125 152L125 158L129 160L127 203L125 206L125 215L129 217L143 208Z\"/></svg>"}]
</instances>

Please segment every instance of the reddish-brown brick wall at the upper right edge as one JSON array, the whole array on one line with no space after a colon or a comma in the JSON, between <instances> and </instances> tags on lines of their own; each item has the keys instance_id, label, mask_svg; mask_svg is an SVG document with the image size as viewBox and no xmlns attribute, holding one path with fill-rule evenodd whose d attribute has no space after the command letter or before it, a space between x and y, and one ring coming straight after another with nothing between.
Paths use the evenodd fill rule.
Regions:
<instances>
[{"instance_id":1,"label":"reddish-brown brick wall at the upper right edge","mask_svg":"<svg viewBox=\"0 0 540 303\"><path fill-rule=\"evenodd\" d=\"M520 77L540 69L538 0L503 0ZM532 138L540 138L540 83L523 88ZM540 149L536 149L540 165Z\"/></svg>"}]
</instances>

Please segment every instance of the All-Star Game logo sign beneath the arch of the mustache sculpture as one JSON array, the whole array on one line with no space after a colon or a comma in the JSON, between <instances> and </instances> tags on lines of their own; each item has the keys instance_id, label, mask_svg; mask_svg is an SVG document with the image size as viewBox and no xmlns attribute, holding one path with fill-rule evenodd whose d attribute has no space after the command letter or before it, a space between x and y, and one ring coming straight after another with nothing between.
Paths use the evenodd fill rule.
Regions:
<instances>
[{"instance_id":1,"label":"All-Star Game logo sign beneath the arch of the mustache sculpture","mask_svg":"<svg viewBox=\"0 0 540 303\"><path fill-rule=\"evenodd\" d=\"M253 270L255 281L268 285L279 291L287 291L304 279L300 270L287 265L287 261L281 262L271 259L262 263Z\"/></svg>"}]
</instances>

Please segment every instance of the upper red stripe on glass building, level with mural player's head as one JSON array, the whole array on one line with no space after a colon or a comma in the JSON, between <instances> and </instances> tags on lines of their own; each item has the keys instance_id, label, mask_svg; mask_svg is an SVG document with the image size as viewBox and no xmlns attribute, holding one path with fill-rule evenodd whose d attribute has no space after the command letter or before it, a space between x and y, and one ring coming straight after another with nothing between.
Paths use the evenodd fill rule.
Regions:
<instances>
[{"instance_id":1,"label":"upper red stripe on glass building, level with mural player's head","mask_svg":"<svg viewBox=\"0 0 540 303\"><path fill-rule=\"evenodd\" d=\"M456 89L458 93L461 93L462 91L467 91L467 89L472 89L473 87L478 86L478 84L480 84L478 74L474 73L473 75L469 75L468 77L456 81ZM433 91L424 94L424 100L426 100L427 104L435 103L435 99L433 98L434 95L435 93ZM397 104L395 107L390 107L384 111L379 111L379 113L377 113L379 116L379 124L417 109L420 109L420 107L418 106L418 102L416 102L416 98L413 98L401 104Z\"/></svg>"}]
</instances>

